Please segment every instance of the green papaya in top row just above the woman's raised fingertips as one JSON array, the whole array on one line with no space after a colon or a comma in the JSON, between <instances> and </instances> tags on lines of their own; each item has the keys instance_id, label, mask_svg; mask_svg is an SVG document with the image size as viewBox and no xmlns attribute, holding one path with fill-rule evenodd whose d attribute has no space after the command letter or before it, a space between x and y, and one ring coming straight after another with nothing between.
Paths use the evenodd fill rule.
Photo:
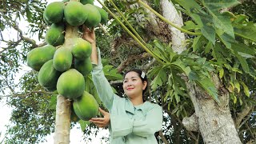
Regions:
<instances>
[{"instance_id":1,"label":"green papaya in top row just above the woman's raised fingertips","mask_svg":"<svg viewBox=\"0 0 256 144\"><path fill-rule=\"evenodd\" d=\"M95 27L101 22L101 14L99 13L96 6L91 4L84 5L86 11L88 11L88 17L86 19L85 25L87 27Z\"/></svg>"}]
</instances>

